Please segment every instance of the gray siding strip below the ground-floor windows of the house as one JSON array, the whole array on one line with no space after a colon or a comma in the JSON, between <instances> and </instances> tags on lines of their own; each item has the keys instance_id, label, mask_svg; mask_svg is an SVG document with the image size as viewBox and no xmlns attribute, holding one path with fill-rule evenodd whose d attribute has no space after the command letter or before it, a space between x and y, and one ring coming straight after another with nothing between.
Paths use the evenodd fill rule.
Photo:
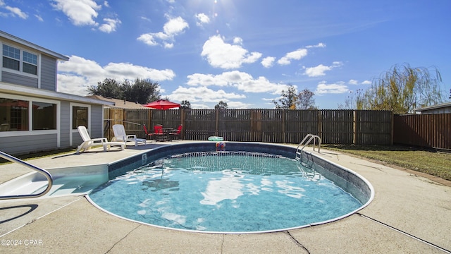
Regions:
<instances>
[{"instance_id":1,"label":"gray siding strip below the ground-floor windows of the house","mask_svg":"<svg viewBox=\"0 0 451 254\"><path fill-rule=\"evenodd\" d=\"M12 155L56 149L56 134L2 137L0 150Z\"/></svg>"}]
</instances>

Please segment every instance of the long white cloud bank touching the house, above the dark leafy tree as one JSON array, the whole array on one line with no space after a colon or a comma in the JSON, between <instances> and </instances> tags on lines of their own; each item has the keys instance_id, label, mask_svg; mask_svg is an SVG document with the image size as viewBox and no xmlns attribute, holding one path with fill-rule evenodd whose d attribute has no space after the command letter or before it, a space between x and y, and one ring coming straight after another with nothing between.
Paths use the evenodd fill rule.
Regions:
<instances>
[{"instance_id":1,"label":"long white cloud bank touching the house, above the dark leafy tree","mask_svg":"<svg viewBox=\"0 0 451 254\"><path fill-rule=\"evenodd\" d=\"M80 56L70 56L69 61L58 63L58 92L74 95L87 95L89 85L96 85L105 78L135 80L136 77L152 81L173 80L175 73L170 70L156 70L132 63L99 63Z\"/></svg>"}]
</instances>

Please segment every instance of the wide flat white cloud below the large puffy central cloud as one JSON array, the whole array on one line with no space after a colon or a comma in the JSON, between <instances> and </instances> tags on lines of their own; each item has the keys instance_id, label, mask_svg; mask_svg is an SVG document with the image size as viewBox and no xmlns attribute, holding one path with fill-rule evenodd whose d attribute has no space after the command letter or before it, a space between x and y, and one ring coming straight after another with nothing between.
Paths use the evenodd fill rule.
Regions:
<instances>
[{"instance_id":1,"label":"wide flat white cloud below the large puffy central cloud","mask_svg":"<svg viewBox=\"0 0 451 254\"><path fill-rule=\"evenodd\" d=\"M187 76L187 85L228 86L244 92L271 92L272 94L280 94L282 90L287 89L287 85L271 83L265 77L255 79L249 73L241 71L228 71L219 75L194 73Z\"/></svg>"}]
</instances>

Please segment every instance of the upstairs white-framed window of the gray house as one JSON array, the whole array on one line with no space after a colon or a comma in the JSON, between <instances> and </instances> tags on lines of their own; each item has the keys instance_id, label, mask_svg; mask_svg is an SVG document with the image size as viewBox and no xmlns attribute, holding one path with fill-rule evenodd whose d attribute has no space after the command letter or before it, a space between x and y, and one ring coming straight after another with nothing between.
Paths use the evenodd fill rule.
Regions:
<instances>
[{"instance_id":1,"label":"upstairs white-framed window of the gray house","mask_svg":"<svg viewBox=\"0 0 451 254\"><path fill-rule=\"evenodd\" d=\"M20 54L22 54L22 61L20 61ZM20 68L20 66L22 66L22 68ZM20 51L20 49L16 47L4 44L3 67L37 75L37 54L32 54L25 50Z\"/></svg>"}]
</instances>

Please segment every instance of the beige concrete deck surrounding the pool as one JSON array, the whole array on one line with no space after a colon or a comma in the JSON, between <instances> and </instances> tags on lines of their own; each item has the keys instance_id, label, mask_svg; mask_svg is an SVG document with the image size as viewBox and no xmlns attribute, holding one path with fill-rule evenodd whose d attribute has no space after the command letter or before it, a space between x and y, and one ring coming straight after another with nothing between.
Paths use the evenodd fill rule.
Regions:
<instances>
[{"instance_id":1,"label":"beige concrete deck surrounding the pool","mask_svg":"<svg viewBox=\"0 0 451 254\"><path fill-rule=\"evenodd\" d=\"M27 162L42 169L108 164L156 145L164 143ZM303 229L204 234L129 222L102 212L84 196L3 200L0 253L451 253L449 181L326 149L321 157L371 182L376 192L371 204L339 221ZM0 183L27 172L17 164L0 165Z\"/></svg>"}]
</instances>

